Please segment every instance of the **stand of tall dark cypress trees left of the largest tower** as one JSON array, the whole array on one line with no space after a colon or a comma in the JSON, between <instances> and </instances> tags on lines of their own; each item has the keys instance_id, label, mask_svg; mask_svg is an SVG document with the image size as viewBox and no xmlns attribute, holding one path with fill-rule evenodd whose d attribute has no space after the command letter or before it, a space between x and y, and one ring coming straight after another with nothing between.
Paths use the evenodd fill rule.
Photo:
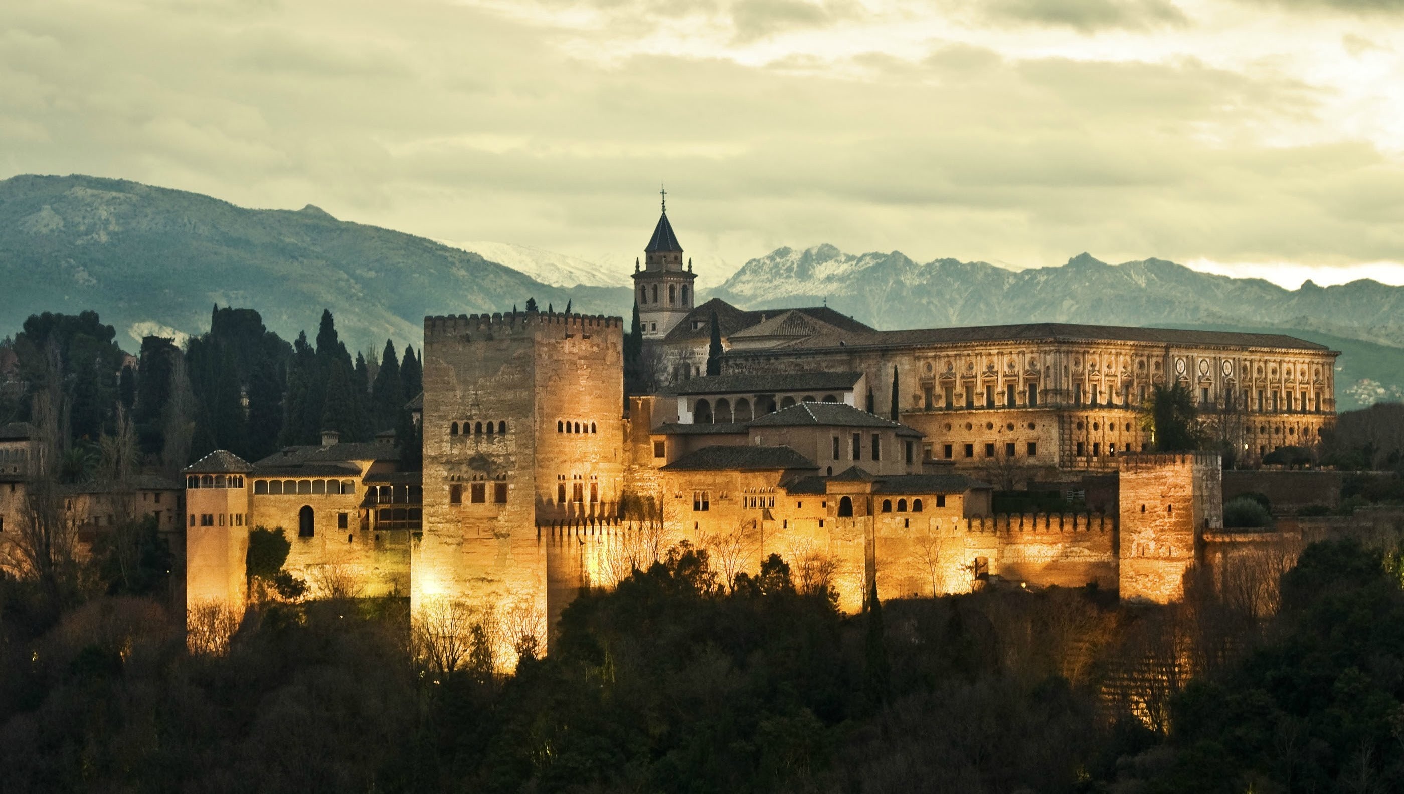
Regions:
<instances>
[{"instance_id":1,"label":"stand of tall dark cypress trees left of the largest tower","mask_svg":"<svg viewBox=\"0 0 1404 794\"><path fill-rule=\"evenodd\" d=\"M128 355L115 337L94 311L44 313L0 342L0 424L34 419L37 396L48 394L39 403L56 405L67 481L97 476L102 439L119 438L125 422L138 466L167 476L213 449L257 460L320 443L324 429L352 442L395 432L406 457L418 457L406 408L421 390L418 355L386 339L352 359L331 311L310 342L286 342L251 309L218 306L184 349L146 337Z\"/></svg>"}]
</instances>

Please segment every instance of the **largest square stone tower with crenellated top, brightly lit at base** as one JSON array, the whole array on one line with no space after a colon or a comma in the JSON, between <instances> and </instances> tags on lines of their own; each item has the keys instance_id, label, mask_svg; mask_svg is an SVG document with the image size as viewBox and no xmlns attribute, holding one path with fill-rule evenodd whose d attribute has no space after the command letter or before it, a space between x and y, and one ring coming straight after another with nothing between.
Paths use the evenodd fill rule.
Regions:
<instances>
[{"instance_id":1,"label":"largest square stone tower with crenellated top, brightly lit at base","mask_svg":"<svg viewBox=\"0 0 1404 794\"><path fill-rule=\"evenodd\" d=\"M424 318L424 529L414 614L445 599L531 612L545 642L550 526L618 513L623 320ZM546 526L546 537L542 537ZM559 606L557 606L559 609Z\"/></svg>"}]
</instances>

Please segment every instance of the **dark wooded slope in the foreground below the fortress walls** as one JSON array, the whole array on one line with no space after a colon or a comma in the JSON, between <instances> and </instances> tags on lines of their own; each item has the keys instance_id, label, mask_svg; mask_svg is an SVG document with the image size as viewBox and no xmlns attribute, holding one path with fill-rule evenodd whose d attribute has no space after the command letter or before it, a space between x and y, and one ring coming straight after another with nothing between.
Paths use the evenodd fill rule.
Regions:
<instances>
[{"instance_id":1,"label":"dark wooded slope in the foreground below the fortress walls","mask_svg":"<svg viewBox=\"0 0 1404 794\"><path fill-rule=\"evenodd\" d=\"M0 581L0 769L6 791L1398 791L1401 554L1377 547L1307 547L1265 614L1192 582L844 616L778 557L723 582L682 546L573 602L549 655L479 614L452 668L403 599L265 602L206 654L119 588L42 620Z\"/></svg>"}]
</instances>

